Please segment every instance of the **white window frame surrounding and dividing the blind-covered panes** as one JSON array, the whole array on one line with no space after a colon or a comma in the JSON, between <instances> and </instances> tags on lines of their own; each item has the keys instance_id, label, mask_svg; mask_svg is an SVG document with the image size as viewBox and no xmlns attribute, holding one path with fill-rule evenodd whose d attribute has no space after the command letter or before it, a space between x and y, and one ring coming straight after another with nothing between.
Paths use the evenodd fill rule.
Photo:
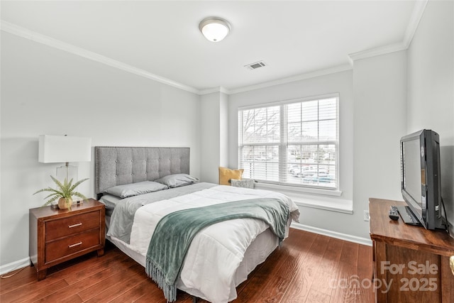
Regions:
<instances>
[{"instance_id":1,"label":"white window frame surrounding and dividing the blind-covered panes","mask_svg":"<svg viewBox=\"0 0 454 303\"><path fill-rule=\"evenodd\" d=\"M335 98L336 99L336 138L334 140L324 140L324 141L311 141L311 142L300 142L300 143L289 143L288 138L287 138L287 133L288 133L288 126L289 123L287 121L287 112L283 113L282 108L287 109L288 104L294 104L294 103L300 103L304 101L317 101L321 99L331 99ZM272 180L257 180L260 184L263 185L270 185L271 187L275 186L284 186L287 188L294 188L297 191L305 191L305 192L313 192L313 193L328 193L328 194L334 194L338 195L340 193L340 184L341 180L339 179L340 177L340 153L339 153L339 145L340 145L340 138L339 138L339 104L340 104L340 96L339 93L331 93L331 94L322 94L322 95L317 95L317 96L312 96L312 97L302 97L302 98L297 98L297 99L288 99L288 100L282 100L282 101L272 101L272 102L267 102L267 103L261 103L261 104L254 104L250 106L238 106L238 167L241 167L243 165L243 160L242 160L242 154L241 150L245 146L277 146L279 149L279 160L278 160L278 166L279 166L279 180L278 181L272 181ZM271 106L279 106L279 125L280 127L280 138L279 138L279 143L243 143L243 111L245 110L250 110L250 109L265 109L269 108ZM317 121L323 121L319 119L319 116L317 117ZM282 127L284 125L284 127ZM335 163L335 177L336 177L336 184L335 187L323 187L323 185L311 185L311 184L298 184L298 183L290 183L290 182L284 182L282 180L287 179L287 166L289 165L289 162L287 161L287 155L288 155L288 147L289 145L322 145L322 144L333 144L335 145L335 153L336 153L336 163ZM243 168L243 167L241 167ZM283 177L284 176L284 177Z\"/></svg>"}]
</instances>

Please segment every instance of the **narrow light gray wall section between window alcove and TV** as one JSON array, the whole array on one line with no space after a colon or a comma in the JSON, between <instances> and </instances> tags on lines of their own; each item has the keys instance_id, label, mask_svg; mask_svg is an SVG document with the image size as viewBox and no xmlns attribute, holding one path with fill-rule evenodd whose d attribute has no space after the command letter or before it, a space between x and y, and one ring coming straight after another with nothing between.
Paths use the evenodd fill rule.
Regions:
<instances>
[{"instance_id":1,"label":"narrow light gray wall section between window alcove and TV","mask_svg":"<svg viewBox=\"0 0 454 303\"><path fill-rule=\"evenodd\" d=\"M355 211L370 197L402 201L400 138L406 134L406 51L354 62ZM358 225L362 234L368 222Z\"/></svg>"}]
</instances>

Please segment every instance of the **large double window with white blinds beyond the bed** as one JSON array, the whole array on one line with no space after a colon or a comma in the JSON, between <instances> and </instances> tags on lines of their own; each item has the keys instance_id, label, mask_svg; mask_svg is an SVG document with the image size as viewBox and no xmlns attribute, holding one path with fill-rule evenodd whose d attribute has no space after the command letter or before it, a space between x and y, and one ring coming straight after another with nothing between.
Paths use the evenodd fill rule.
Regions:
<instances>
[{"instance_id":1,"label":"large double window with white blinds beyond the bed","mask_svg":"<svg viewBox=\"0 0 454 303\"><path fill-rule=\"evenodd\" d=\"M338 94L238 110L238 161L259 182L338 189Z\"/></svg>"}]
</instances>

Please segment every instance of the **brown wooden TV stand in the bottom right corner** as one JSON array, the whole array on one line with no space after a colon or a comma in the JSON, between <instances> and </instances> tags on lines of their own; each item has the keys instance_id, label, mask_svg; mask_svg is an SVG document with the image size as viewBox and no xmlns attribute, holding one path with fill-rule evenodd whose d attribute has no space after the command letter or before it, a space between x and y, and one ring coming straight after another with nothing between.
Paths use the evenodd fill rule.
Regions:
<instances>
[{"instance_id":1,"label":"brown wooden TV stand in the bottom right corner","mask_svg":"<svg viewBox=\"0 0 454 303\"><path fill-rule=\"evenodd\" d=\"M454 238L389 219L392 205L406 204L369 199L375 302L453 302Z\"/></svg>"}]
</instances>

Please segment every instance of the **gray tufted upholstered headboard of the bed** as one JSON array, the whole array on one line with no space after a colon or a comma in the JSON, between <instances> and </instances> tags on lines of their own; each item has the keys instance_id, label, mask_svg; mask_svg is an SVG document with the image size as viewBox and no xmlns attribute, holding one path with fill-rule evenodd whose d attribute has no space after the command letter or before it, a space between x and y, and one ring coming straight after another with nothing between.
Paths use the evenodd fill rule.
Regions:
<instances>
[{"instance_id":1,"label":"gray tufted upholstered headboard of the bed","mask_svg":"<svg viewBox=\"0 0 454 303\"><path fill-rule=\"evenodd\" d=\"M96 194L121 184L189 174L189 148L95 146Z\"/></svg>"}]
</instances>

